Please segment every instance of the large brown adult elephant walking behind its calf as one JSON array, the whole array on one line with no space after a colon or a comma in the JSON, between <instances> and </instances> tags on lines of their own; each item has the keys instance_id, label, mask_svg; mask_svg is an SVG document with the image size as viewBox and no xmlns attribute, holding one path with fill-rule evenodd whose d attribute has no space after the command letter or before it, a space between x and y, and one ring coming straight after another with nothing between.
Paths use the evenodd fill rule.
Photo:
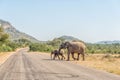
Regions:
<instances>
[{"instance_id":1,"label":"large brown adult elephant walking behind its calf","mask_svg":"<svg viewBox=\"0 0 120 80\"><path fill-rule=\"evenodd\" d=\"M82 54L83 56L83 60L85 60L84 58L84 53L85 53L85 44L83 42L79 42L79 41L75 41L75 42L65 42L62 43L59 47L59 51L61 49L66 49L68 50L67 52L67 61L70 60L70 53L72 54L72 58L74 60L79 60L79 55ZM74 57L74 53L77 53L77 58Z\"/></svg>"}]
</instances>

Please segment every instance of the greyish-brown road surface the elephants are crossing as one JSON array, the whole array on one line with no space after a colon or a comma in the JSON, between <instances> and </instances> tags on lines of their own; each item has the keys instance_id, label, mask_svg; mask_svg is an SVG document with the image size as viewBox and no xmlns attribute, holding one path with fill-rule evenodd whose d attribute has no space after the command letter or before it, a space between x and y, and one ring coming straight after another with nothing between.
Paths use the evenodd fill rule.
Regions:
<instances>
[{"instance_id":1,"label":"greyish-brown road surface the elephants are crossing","mask_svg":"<svg viewBox=\"0 0 120 80\"><path fill-rule=\"evenodd\" d=\"M0 80L120 80L120 76L22 49L0 66Z\"/></svg>"}]
</instances>

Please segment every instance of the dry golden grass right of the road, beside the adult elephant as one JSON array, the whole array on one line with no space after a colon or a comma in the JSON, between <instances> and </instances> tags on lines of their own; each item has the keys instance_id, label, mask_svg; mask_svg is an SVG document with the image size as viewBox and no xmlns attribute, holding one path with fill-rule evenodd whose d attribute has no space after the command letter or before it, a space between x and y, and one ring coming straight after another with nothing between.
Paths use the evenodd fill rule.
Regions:
<instances>
[{"instance_id":1,"label":"dry golden grass right of the road, beside the adult elephant","mask_svg":"<svg viewBox=\"0 0 120 80\"><path fill-rule=\"evenodd\" d=\"M85 61L75 61L77 64L104 70L120 75L120 54L89 54Z\"/></svg>"}]
</instances>

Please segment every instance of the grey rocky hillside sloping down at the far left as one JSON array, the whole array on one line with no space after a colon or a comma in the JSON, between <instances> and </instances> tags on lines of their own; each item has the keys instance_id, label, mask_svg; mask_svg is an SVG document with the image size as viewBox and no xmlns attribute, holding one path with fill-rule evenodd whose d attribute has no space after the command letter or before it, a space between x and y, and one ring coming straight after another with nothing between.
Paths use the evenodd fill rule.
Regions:
<instances>
[{"instance_id":1,"label":"grey rocky hillside sloping down at the far left","mask_svg":"<svg viewBox=\"0 0 120 80\"><path fill-rule=\"evenodd\" d=\"M40 42L39 40L35 39L34 37L15 29L15 27L13 27L7 21L0 20L0 26L2 26L5 30L5 32L10 35L10 40L18 40L18 39L24 38L24 39L28 39L29 41L32 41L32 42Z\"/></svg>"}]
</instances>

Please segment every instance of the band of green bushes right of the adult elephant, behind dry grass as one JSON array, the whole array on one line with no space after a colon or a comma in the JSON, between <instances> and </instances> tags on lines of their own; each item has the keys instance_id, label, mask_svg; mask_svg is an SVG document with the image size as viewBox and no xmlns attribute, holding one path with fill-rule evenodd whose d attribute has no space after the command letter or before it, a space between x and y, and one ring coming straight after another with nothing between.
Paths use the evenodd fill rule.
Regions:
<instances>
[{"instance_id":1,"label":"band of green bushes right of the adult elephant, behind dry grass","mask_svg":"<svg viewBox=\"0 0 120 80\"><path fill-rule=\"evenodd\" d=\"M118 53L120 54L120 44L87 44L87 53Z\"/></svg>"}]
</instances>

